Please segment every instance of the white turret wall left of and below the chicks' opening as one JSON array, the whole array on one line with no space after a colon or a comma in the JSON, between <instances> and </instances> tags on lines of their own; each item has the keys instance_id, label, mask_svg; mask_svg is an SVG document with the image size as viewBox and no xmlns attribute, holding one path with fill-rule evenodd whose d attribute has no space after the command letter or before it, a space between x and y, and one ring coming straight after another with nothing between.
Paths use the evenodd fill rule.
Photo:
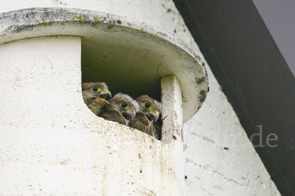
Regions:
<instances>
[{"instance_id":1,"label":"white turret wall left of and below the chicks' opening","mask_svg":"<svg viewBox=\"0 0 295 196\"><path fill-rule=\"evenodd\" d=\"M84 103L80 37L0 51L0 195L184 195L182 142L105 121Z\"/></svg>"}]
</instances>

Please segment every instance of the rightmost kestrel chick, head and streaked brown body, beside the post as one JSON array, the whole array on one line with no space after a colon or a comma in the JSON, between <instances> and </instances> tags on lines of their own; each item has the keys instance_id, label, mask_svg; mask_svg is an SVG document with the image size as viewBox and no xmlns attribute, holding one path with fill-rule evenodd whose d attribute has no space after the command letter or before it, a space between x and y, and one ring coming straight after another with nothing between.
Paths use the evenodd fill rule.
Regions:
<instances>
[{"instance_id":1,"label":"rightmost kestrel chick, head and streaked brown body, beside the post","mask_svg":"<svg viewBox=\"0 0 295 196\"><path fill-rule=\"evenodd\" d=\"M139 103L139 111L136 113L136 117L130 121L129 126L145 132L158 140L160 127L157 127L153 121L157 120L161 114L161 103L147 95L137 98L136 101ZM145 108L146 103L150 104L150 109Z\"/></svg>"}]
</instances>

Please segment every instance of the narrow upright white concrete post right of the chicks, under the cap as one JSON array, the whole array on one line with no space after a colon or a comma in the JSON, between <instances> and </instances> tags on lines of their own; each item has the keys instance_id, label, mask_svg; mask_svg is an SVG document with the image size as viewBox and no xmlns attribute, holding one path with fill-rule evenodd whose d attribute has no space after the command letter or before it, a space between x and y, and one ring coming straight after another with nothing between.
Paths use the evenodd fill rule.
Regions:
<instances>
[{"instance_id":1,"label":"narrow upright white concrete post right of the chicks, under the cap","mask_svg":"<svg viewBox=\"0 0 295 196\"><path fill-rule=\"evenodd\" d=\"M184 154L181 86L175 75L161 78L162 138L161 142L171 147L174 172L184 187ZM173 188L174 189L174 188ZM176 190L174 190L176 191ZM177 195L177 193L174 193Z\"/></svg>"}]
</instances>

